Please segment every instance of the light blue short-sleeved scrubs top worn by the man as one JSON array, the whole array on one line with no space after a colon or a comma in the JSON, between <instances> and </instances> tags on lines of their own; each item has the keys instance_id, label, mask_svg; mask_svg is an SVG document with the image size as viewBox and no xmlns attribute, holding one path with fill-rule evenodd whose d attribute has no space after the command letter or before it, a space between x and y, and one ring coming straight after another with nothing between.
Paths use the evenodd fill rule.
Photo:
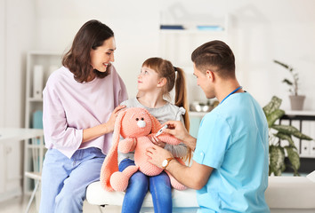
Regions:
<instances>
[{"instance_id":1,"label":"light blue short-sleeved scrubs top worn by the man","mask_svg":"<svg viewBox=\"0 0 315 213\"><path fill-rule=\"evenodd\" d=\"M268 124L247 92L232 94L200 122L193 160L214 168L198 190L198 212L270 212Z\"/></svg>"}]
</instances>

